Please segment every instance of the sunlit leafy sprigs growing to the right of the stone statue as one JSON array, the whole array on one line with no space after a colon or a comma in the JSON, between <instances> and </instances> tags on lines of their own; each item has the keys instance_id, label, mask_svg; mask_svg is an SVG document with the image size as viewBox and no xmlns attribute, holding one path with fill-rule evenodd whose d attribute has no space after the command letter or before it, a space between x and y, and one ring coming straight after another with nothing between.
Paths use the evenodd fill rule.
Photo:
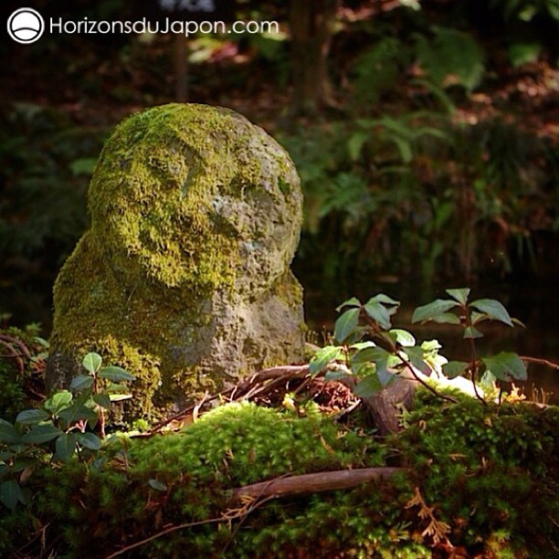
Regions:
<instances>
[{"instance_id":1,"label":"sunlit leafy sprigs growing to the right of the stone statue","mask_svg":"<svg viewBox=\"0 0 559 559\"><path fill-rule=\"evenodd\" d=\"M439 322L459 324L463 337L468 340L471 359L468 363L448 362L438 354L437 341L417 344L406 330L392 328L392 317L399 301L380 293L364 304L356 298L344 301L337 308L343 311L334 325L333 337L337 344L327 345L311 360L311 373L317 374L327 364L338 361L346 365L342 372L329 372L327 378L340 378L353 374L359 382L353 392L356 396L374 396L392 383L396 375L405 371L432 392L427 377L452 380L469 375L474 394L484 401L478 388L480 375L483 384L525 380L526 368L517 353L501 352L478 358L475 340L483 336L478 326L484 321L498 321L507 326L521 322L512 319L501 302L493 299L469 301L469 289L447 290L451 299L438 299L418 307L412 322Z\"/></svg>"}]
</instances>

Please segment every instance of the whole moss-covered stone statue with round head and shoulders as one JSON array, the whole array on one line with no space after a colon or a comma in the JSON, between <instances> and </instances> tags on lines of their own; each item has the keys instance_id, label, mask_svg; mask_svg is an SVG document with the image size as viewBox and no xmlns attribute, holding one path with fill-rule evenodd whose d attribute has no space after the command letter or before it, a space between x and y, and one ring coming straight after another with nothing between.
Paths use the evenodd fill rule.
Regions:
<instances>
[{"instance_id":1,"label":"whole moss-covered stone statue with round head and shoulders","mask_svg":"<svg viewBox=\"0 0 559 559\"><path fill-rule=\"evenodd\" d=\"M123 121L55 284L47 383L97 351L138 375L138 415L301 359L301 205L289 155L234 111L169 104Z\"/></svg>"}]
</instances>

